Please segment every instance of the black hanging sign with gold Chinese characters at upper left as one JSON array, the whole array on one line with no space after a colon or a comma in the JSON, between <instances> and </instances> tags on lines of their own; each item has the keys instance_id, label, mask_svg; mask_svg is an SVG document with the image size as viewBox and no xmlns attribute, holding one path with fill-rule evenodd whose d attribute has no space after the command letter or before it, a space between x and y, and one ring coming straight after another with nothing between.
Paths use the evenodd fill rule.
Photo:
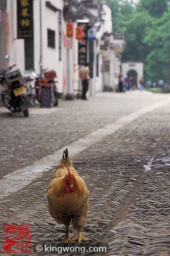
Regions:
<instances>
[{"instance_id":1,"label":"black hanging sign with gold Chinese characters at upper left","mask_svg":"<svg viewBox=\"0 0 170 256\"><path fill-rule=\"evenodd\" d=\"M33 38L33 0L17 0L18 38Z\"/></svg>"}]
</instances>

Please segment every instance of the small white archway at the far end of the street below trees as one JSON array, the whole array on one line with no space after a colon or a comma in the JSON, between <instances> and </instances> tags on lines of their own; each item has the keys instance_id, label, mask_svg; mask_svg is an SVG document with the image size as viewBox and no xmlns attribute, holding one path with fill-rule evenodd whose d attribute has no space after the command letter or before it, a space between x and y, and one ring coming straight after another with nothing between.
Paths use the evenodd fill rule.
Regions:
<instances>
[{"instance_id":1,"label":"small white archway at the far end of the street below trees","mask_svg":"<svg viewBox=\"0 0 170 256\"><path fill-rule=\"evenodd\" d=\"M144 65L143 62L128 61L121 63L121 72L123 75L127 75L130 70L135 70L137 72L137 86L140 88L139 80L144 76Z\"/></svg>"}]
</instances>

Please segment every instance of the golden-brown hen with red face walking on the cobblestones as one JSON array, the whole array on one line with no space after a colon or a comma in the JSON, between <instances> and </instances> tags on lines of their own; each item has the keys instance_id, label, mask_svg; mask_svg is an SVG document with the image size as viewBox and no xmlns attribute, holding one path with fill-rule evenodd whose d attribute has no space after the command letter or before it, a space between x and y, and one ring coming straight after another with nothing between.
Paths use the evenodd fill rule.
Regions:
<instances>
[{"instance_id":1,"label":"golden-brown hen with red face walking on the cobblestones","mask_svg":"<svg viewBox=\"0 0 170 256\"><path fill-rule=\"evenodd\" d=\"M59 224L66 226L66 236L62 242L73 242L74 240L80 242L81 238L88 241L81 233L88 215L88 197L89 191L86 183L73 168L66 148L47 189L51 216ZM71 220L74 229L77 231L77 236L73 239L69 237Z\"/></svg>"}]
</instances>

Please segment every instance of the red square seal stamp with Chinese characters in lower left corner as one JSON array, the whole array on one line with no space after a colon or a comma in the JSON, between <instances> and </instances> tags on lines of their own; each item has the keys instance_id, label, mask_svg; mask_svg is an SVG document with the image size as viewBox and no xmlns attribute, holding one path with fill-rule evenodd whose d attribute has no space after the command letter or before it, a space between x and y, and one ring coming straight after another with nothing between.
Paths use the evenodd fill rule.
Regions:
<instances>
[{"instance_id":1,"label":"red square seal stamp with Chinese characters in lower left corner","mask_svg":"<svg viewBox=\"0 0 170 256\"><path fill-rule=\"evenodd\" d=\"M31 253L31 225L4 225L4 253Z\"/></svg>"}]
</instances>

